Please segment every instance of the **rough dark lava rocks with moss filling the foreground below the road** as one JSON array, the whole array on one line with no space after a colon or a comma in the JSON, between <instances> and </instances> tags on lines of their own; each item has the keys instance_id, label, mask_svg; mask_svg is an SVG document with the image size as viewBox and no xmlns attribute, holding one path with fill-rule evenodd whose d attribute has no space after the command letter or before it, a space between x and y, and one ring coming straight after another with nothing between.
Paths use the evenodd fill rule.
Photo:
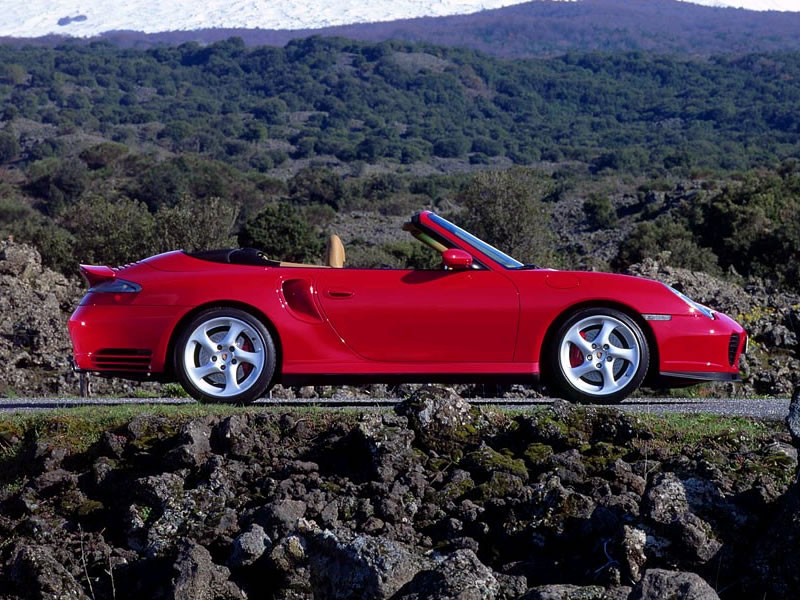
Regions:
<instances>
[{"instance_id":1,"label":"rough dark lava rocks with moss filling the foreground below the road","mask_svg":"<svg viewBox=\"0 0 800 600\"><path fill-rule=\"evenodd\" d=\"M785 431L666 441L428 388L392 412L139 416L82 449L68 418L0 425L3 598L800 594Z\"/></svg>"}]
</instances>

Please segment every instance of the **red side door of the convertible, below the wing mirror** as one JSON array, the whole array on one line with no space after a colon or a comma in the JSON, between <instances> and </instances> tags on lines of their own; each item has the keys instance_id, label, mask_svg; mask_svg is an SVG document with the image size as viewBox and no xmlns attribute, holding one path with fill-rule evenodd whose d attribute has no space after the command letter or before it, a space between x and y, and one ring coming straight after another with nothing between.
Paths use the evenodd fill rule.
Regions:
<instances>
[{"instance_id":1,"label":"red side door of the convertible, below the wing mirror","mask_svg":"<svg viewBox=\"0 0 800 600\"><path fill-rule=\"evenodd\" d=\"M510 362L516 286L488 269L326 269L317 291L332 327L366 359Z\"/></svg>"}]
</instances>

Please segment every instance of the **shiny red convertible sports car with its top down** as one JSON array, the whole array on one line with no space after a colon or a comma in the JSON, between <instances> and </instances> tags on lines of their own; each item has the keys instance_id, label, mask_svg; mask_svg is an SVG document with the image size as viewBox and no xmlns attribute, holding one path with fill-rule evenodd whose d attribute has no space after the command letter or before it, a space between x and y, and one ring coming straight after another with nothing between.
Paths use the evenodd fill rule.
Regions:
<instances>
[{"instance_id":1,"label":"shiny red convertible sports car with its top down","mask_svg":"<svg viewBox=\"0 0 800 600\"><path fill-rule=\"evenodd\" d=\"M177 379L202 401L250 402L275 383L545 380L581 402L739 379L745 331L648 279L524 265L430 211L404 229L433 270L326 264L254 249L81 265L75 368Z\"/></svg>"}]
</instances>

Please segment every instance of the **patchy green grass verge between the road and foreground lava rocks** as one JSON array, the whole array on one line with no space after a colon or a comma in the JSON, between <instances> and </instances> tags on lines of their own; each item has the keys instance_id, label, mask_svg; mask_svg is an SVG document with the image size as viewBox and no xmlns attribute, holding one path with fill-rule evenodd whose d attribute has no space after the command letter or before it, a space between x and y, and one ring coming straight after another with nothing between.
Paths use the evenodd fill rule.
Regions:
<instances>
[{"instance_id":1,"label":"patchy green grass verge between the road and foreground lava rocks","mask_svg":"<svg viewBox=\"0 0 800 600\"><path fill-rule=\"evenodd\" d=\"M215 416L225 418L236 414L289 414L293 419L303 420L315 433L334 423L355 424L365 410L390 412L392 408L318 406L303 407L236 407L225 404L137 404L115 406L85 406L59 408L37 413L6 413L0 415L0 488L18 485L20 478L28 472L26 457L38 442L66 448L70 454L85 452L105 431L113 431L140 416L160 417L159 437L177 432L181 425L194 418ZM578 411L581 409L578 408ZM521 413L547 411L539 407L533 411L519 409L485 409L485 414L500 429ZM785 426L779 422L761 421L746 417L727 417L712 414L637 414L632 415L652 433L651 439L635 440L633 447L645 457L653 456L660 449L671 456L686 455L706 458L739 479L743 476L769 472L783 480L792 475L782 464L785 456L772 457L768 447ZM552 419L552 415L550 415ZM579 427L580 412L573 414L571 424ZM575 421L574 419L577 419ZM277 423L277 421L275 421ZM771 460L771 458L774 460ZM732 462L732 458L735 461ZM771 462L770 462L771 461ZM774 463L774 464L773 464Z\"/></svg>"}]
</instances>

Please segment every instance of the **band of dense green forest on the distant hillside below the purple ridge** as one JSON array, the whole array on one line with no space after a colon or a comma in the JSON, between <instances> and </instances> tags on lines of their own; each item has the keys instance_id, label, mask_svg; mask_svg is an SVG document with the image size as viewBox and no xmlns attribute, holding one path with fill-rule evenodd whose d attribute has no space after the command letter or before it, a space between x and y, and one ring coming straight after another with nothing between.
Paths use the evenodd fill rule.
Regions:
<instances>
[{"instance_id":1,"label":"band of dense green forest on the distant hillside below the purple ridge","mask_svg":"<svg viewBox=\"0 0 800 600\"><path fill-rule=\"evenodd\" d=\"M0 104L6 122L148 141L259 171L287 156L740 169L800 152L800 54L509 62L319 38L254 50L238 39L145 52L3 47ZM53 153L51 139L19 143L27 158ZM15 154L7 146L0 153Z\"/></svg>"}]
</instances>

